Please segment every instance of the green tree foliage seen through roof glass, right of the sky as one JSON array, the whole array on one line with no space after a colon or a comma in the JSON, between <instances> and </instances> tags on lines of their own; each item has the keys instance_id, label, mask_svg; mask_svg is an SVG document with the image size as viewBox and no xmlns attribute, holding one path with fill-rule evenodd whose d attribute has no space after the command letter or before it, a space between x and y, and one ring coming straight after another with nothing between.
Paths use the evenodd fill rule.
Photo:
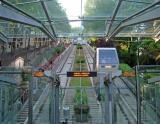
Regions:
<instances>
[{"instance_id":1,"label":"green tree foliage seen through roof glass, right of the sky","mask_svg":"<svg viewBox=\"0 0 160 124\"><path fill-rule=\"evenodd\" d=\"M116 5L119 0L87 0L85 5L85 14L84 17L112 17L113 12L116 8ZM139 2L139 3L138 3ZM153 3L153 0L139 0L138 2L127 2L122 1L121 6L117 12L116 17L128 17L142 8ZM142 2L142 3L140 3ZM143 3L144 2L144 3ZM150 4L148 4L150 3ZM84 21L83 26L85 32L102 32L106 30L106 20L101 21ZM114 24L117 25L119 22L115 21ZM112 26L112 28L114 25Z\"/></svg>"}]
</instances>

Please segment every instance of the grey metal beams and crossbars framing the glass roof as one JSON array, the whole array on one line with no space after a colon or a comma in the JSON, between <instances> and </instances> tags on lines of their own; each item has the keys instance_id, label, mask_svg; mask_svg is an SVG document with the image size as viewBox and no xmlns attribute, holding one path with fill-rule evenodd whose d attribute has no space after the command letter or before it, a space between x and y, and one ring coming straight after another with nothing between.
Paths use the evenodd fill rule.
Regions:
<instances>
[{"instance_id":1,"label":"grey metal beams and crossbars framing the glass roof","mask_svg":"<svg viewBox=\"0 0 160 124\"><path fill-rule=\"evenodd\" d=\"M47 0L50 1L50 0ZM51 39L55 39L56 37L61 37L61 36L65 36L65 37L71 37L73 36L73 34L71 33L56 33L54 30L53 25L56 23L68 23L68 22L77 22L77 21L106 21L108 23L108 25L106 26L106 34L105 36L107 36L107 39L111 39L112 37L114 37L116 34L118 34L123 28L127 27L127 26L131 26L131 25L135 25L135 24L139 24L139 23L144 23L144 22L148 22L148 21L153 21L156 19L160 19L160 7L156 5L160 4L160 1L158 0L157 2L155 2L154 4L150 5L149 7L139 11L136 14L133 14L132 16L126 18L126 17L117 17L117 13L122 5L122 2L133 2L133 3L138 3L138 4L146 4L149 5L151 3L149 2L141 2L141 1L136 1L136 0L118 0L118 3L115 7L115 10L113 11L113 15L112 16L93 16L93 17L84 17L84 16L80 16L79 19L71 19L71 20L67 20L65 18L52 18L49 15L49 11L46 5L47 1L43 1L43 0L34 0L34 1L29 1L29 2L23 2L23 3L17 3L17 4L10 4L5 0L1 0L2 4L0 4L0 19L3 20L8 20L8 21L12 21L15 23L21 23L21 24L25 24L25 25L30 25L31 27L36 27L39 28L42 32L44 32L45 34L47 34L47 36L49 36ZM45 16L47 17L46 19L37 19L32 17L31 15L25 13L24 11L22 11L21 9L15 7L15 5L23 5L23 4L32 4L32 3L40 3L42 6L42 9L44 10ZM5 6L3 6L5 5ZM8 6L8 7L6 7ZM125 19L124 19L125 18ZM41 20L41 21L40 21ZM111 32L111 28L114 24L114 22L120 22L118 24L118 26ZM45 25L45 22L47 22L51 29L50 30L47 28L47 26ZM1 39L4 41L7 38L3 37L2 34L0 34ZM83 37L104 37L104 33L84 33L84 34L78 34L77 36L83 36Z\"/></svg>"}]
</instances>

